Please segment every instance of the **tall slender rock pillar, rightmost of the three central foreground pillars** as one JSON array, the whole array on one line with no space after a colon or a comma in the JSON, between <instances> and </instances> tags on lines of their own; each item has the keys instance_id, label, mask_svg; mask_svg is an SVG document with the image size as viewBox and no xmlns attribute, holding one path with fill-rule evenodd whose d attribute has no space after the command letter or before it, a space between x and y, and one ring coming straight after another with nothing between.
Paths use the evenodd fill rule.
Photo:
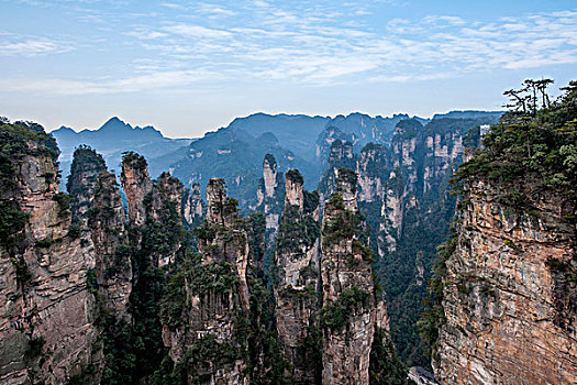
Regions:
<instances>
[{"instance_id":1,"label":"tall slender rock pillar, rightmost of the three central foreground pillars","mask_svg":"<svg viewBox=\"0 0 577 385\"><path fill-rule=\"evenodd\" d=\"M354 172L341 169L336 186L342 195L325 202L322 221L322 383L368 384L377 323L371 253L356 210Z\"/></svg>"}]
</instances>

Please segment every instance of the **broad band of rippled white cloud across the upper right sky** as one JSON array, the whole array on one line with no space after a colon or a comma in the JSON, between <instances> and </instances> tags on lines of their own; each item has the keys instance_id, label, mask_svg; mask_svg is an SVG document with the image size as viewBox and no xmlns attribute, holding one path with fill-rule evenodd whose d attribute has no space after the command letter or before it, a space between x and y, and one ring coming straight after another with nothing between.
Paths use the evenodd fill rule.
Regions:
<instances>
[{"instance_id":1,"label":"broad band of rippled white cloud across the upper right sky","mask_svg":"<svg viewBox=\"0 0 577 385\"><path fill-rule=\"evenodd\" d=\"M491 23L455 15L395 19L379 31L339 23L342 15L326 8L304 12L263 0L252 4L255 18L242 25L234 20L219 28L173 23L162 28L169 34L162 46L145 47L180 59L210 57L214 66L233 62L245 76L313 85L360 75L373 81L429 80L439 74L577 63L573 11Z\"/></svg>"}]
</instances>

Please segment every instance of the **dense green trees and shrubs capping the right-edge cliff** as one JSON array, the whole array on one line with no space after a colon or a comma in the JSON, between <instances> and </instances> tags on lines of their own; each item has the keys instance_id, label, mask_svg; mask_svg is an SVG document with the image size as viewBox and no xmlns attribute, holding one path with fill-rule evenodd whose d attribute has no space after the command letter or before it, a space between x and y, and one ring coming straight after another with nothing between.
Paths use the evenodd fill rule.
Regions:
<instances>
[{"instance_id":1,"label":"dense green trees and shrubs capping the right-edge cliff","mask_svg":"<svg viewBox=\"0 0 577 385\"><path fill-rule=\"evenodd\" d=\"M577 81L570 81L563 90L565 92L558 100L544 102L541 109L529 97L531 88L508 91L507 95L514 95L513 99L521 98L519 105L514 105L517 110L506 113L501 123L484 136L482 148L459 167L454 180L455 190L464 194L468 183L487 180L509 191L502 204L518 210L529 209L530 196L541 191L574 197L577 185ZM545 95L544 100L548 98ZM529 109L528 103L533 107ZM520 179L529 183L519 184Z\"/></svg>"}]
</instances>

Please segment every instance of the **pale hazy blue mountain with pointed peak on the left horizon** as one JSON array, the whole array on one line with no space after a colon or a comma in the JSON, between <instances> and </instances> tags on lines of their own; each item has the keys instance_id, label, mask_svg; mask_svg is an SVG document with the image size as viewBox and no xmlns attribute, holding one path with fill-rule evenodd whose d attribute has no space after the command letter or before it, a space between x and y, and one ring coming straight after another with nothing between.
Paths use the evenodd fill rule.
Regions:
<instances>
[{"instance_id":1,"label":"pale hazy blue mountain with pointed peak on the left horizon","mask_svg":"<svg viewBox=\"0 0 577 385\"><path fill-rule=\"evenodd\" d=\"M59 162L63 170L63 185L69 174L73 153L80 144L88 144L102 154L108 166L115 168L116 172L120 172L119 164L122 153L135 151L149 161L151 176L156 177L163 170L168 170L169 165L175 162L177 155L166 156L167 154L173 154L193 141L165 138L160 131L151 125L133 128L116 117L109 119L98 130L76 132L70 128L62 127L51 134L56 139L62 151Z\"/></svg>"}]
</instances>

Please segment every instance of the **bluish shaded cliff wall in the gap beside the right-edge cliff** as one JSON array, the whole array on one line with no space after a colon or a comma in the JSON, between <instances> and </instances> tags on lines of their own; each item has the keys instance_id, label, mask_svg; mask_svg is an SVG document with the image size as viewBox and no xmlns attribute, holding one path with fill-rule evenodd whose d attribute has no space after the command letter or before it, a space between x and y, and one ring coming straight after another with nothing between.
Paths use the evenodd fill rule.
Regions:
<instances>
[{"instance_id":1,"label":"bluish shaded cliff wall in the gap beside the right-edge cliff","mask_svg":"<svg viewBox=\"0 0 577 385\"><path fill-rule=\"evenodd\" d=\"M410 364L428 364L414 329L415 315L436 245L445 239L456 206L448 179L465 147L478 145L476 124L439 119L423 127L407 119L398 123L389 148L367 145L357 162L358 206L366 212L370 244L377 251L389 316L395 329L411 330L410 336L393 334L393 341Z\"/></svg>"}]
</instances>

